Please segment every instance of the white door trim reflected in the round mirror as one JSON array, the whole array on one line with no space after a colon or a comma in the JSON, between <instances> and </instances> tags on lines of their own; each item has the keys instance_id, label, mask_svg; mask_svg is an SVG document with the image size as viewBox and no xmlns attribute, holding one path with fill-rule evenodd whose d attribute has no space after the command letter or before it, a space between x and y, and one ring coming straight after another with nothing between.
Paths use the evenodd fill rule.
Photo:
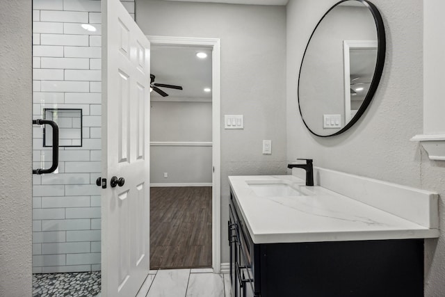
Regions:
<instances>
[{"instance_id":1,"label":"white door trim reflected in the round mirror","mask_svg":"<svg viewBox=\"0 0 445 297\"><path fill-rule=\"evenodd\" d=\"M345 83L345 122L346 126L353 117L350 115L350 49L377 49L376 40L343 40L343 74Z\"/></svg>"}]
</instances>

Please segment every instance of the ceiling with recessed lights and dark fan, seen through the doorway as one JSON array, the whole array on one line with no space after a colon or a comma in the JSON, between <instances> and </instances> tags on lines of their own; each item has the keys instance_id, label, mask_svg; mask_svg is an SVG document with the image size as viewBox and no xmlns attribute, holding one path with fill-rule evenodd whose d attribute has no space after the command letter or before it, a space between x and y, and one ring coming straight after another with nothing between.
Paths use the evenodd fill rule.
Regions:
<instances>
[{"instance_id":1,"label":"ceiling with recessed lights and dark fan, seen through the doorway","mask_svg":"<svg viewBox=\"0 0 445 297\"><path fill-rule=\"evenodd\" d=\"M197 58L204 51L207 58ZM182 86L183 90L160 88L168 97L151 93L154 101L210 101L211 92L211 48L184 47L174 45L152 45L150 72L156 76L154 83Z\"/></svg>"}]
</instances>

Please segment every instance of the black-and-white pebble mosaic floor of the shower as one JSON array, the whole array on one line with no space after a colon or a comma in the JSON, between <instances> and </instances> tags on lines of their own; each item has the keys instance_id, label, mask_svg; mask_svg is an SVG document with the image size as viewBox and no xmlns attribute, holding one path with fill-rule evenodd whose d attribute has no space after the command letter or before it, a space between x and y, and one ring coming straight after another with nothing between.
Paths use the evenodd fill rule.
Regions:
<instances>
[{"instance_id":1,"label":"black-and-white pebble mosaic floor of the shower","mask_svg":"<svg viewBox=\"0 0 445 297\"><path fill-rule=\"evenodd\" d=\"M33 297L94 297L100 288L100 271L33 274Z\"/></svg>"}]
</instances>

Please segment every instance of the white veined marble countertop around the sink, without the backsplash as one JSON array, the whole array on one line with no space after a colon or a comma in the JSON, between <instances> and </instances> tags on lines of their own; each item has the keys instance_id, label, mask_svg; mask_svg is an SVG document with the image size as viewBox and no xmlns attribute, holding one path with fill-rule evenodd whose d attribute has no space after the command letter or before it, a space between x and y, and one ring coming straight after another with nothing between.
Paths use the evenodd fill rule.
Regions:
<instances>
[{"instance_id":1,"label":"white veined marble countertop around the sink, without the backsplash","mask_svg":"<svg viewBox=\"0 0 445 297\"><path fill-rule=\"evenodd\" d=\"M306 195L261 197L248 185L285 180ZM229 183L254 243L420 239L430 229L293 175L231 176Z\"/></svg>"}]
</instances>

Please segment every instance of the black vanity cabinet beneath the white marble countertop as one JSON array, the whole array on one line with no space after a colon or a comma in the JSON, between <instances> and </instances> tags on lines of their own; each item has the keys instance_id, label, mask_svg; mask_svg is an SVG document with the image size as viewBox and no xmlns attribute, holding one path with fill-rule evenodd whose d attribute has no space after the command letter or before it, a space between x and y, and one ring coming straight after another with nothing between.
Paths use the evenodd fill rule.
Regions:
<instances>
[{"instance_id":1,"label":"black vanity cabinet beneath the white marble countertop","mask_svg":"<svg viewBox=\"0 0 445 297\"><path fill-rule=\"evenodd\" d=\"M233 193L228 223L233 297L423 296L423 239L256 244Z\"/></svg>"}]
</instances>

